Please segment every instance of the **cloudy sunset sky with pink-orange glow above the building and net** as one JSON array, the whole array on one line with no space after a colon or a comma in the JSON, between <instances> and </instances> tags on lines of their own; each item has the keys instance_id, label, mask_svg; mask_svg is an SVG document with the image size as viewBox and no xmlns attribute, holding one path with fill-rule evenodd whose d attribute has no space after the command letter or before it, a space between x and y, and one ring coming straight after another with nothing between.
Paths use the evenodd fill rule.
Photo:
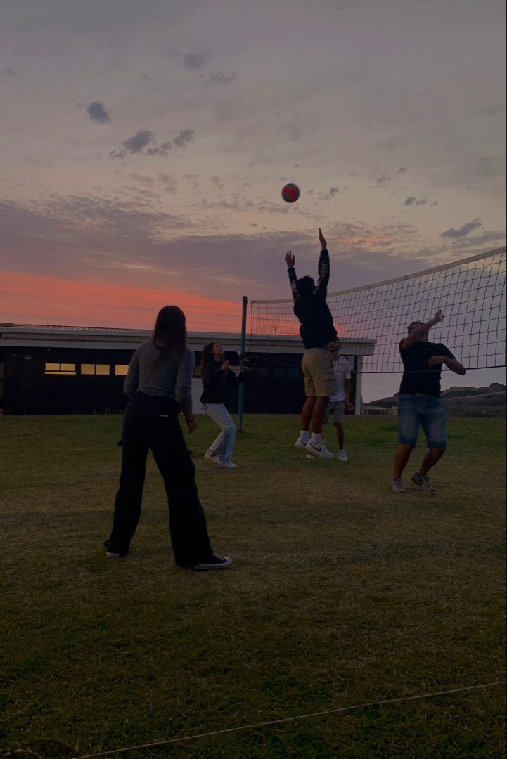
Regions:
<instances>
[{"instance_id":1,"label":"cloudy sunset sky with pink-orange glow above the building and net","mask_svg":"<svg viewBox=\"0 0 507 759\"><path fill-rule=\"evenodd\" d=\"M5 2L0 97L0 321L238 332L319 226L329 291L505 244L503 0Z\"/></svg>"}]
</instances>

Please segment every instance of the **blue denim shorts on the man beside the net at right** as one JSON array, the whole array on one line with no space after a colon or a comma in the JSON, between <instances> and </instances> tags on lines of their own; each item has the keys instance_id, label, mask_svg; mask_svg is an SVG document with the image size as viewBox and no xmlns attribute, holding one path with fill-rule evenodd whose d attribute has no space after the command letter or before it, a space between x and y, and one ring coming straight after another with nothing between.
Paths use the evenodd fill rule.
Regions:
<instances>
[{"instance_id":1,"label":"blue denim shorts on the man beside the net at right","mask_svg":"<svg viewBox=\"0 0 507 759\"><path fill-rule=\"evenodd\" d=\"M428 448L445 448L447 419L440 398L433 395L398 395L398 442L415 446L419 425L426 435Z\"/></svg>"}]
</instances>

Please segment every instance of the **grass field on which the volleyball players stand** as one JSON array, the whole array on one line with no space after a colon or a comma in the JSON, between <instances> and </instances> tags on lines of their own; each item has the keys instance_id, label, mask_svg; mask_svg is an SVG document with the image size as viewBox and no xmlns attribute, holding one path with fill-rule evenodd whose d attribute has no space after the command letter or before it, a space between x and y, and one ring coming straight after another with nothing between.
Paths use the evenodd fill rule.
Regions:
<instances>
[{"instance_id":1,"label":"grass field on which the volleyball players stand","mask_svg":"<svg viewBox=\"0 0 507 759\"><path fill-rule=\"evenodd\" d=\"M200 418L200 496L235 564L197 573L173 565L153 461L131 554L105 559L121 417L0 417L0 756L69 759L503 680L505 423L450 420L436 497L389 492L395 420L346 427L347 464L308 461L297 417L246 417L230 472L203 461L216 428ZM505 755L504 694L112 755L489 759Z\"/></svg>"}]
</instances>

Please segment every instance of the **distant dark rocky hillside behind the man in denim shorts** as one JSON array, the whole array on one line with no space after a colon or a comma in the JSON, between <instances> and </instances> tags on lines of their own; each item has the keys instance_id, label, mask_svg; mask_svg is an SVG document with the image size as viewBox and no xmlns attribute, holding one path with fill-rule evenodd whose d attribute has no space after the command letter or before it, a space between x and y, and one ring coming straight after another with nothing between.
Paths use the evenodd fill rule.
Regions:
<instances>
[{"instance_id":1,"label":"distant dark rocky hillside behind the man in denim shorts","mask_svg":"<svg viewBox=\"0 0 507 759\"><path fill-rule=\"evenodd\" d=\"M507 387L491 383L489 387L450 387L442 390L442 404L450 417L505 418ZM398 393L389 398L365 403L365 406L392 408L398 403Z\"/></svg>"}]
</instances>

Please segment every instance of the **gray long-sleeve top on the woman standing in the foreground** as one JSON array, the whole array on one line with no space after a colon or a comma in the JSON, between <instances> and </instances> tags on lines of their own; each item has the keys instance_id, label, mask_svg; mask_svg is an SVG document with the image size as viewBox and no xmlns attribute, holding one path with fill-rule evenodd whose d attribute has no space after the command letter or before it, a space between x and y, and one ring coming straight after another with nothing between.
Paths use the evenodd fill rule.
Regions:
<instances>
[{"instance_id":1,"label":"gray long-sleeve top on the woman standing in the foreground","mask_svg":"<svg viewBox=\"0 0 507 759\"><path fill-rule=\"evenodd\" d=\"M191 348L185 348L177 357L160 361L160 351L153 345L153 340L149 340L140 345L132 356L124 393L129 398L134 398L137 390L146 395L174 398L179 410L187 416L192 413L194 366L195 354Z\"/></svg>"}]
</instances>

